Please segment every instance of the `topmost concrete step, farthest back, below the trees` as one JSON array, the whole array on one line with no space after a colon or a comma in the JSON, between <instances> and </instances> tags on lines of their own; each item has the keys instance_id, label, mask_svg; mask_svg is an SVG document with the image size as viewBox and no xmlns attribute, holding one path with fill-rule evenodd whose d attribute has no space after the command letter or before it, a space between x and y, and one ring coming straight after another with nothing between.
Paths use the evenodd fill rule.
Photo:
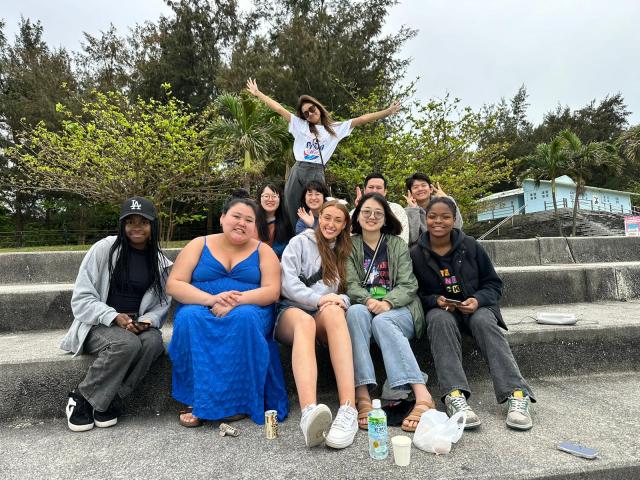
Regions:
<instances>
[{"instance_id":1,"label":"topmost concrete step, farthest back, below the trees","mask_svg":"<svg viewBox=\"0 0 640 480\"><path fill-rule=\"evenodd\" d=\"M640 237L483 240L497 267L640 261ZM175 259L180 249L165 250ZM86 252L0 254L0 285L73 283Z\"/></svg>"}]
</instances>

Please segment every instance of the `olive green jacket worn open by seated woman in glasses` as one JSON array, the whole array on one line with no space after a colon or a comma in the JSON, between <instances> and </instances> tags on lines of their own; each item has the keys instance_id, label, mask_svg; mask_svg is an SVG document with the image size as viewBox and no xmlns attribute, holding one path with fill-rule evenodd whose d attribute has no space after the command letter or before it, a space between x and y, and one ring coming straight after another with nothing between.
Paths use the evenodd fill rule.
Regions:
<instances>
[{"instance_id":1,"label":"olive green jacket worn open by seated woman in glasses","mask_svg":"<svg viewBox=\"0 0 640 480\"><path fill-rule=\"evenodd\" d=\"M413 275L413 264L409 256L407 244L395 235L387 235L387 257L389 260L389 276L393 289L387 293L384 300L389 302L393 308L407 307L413 317L413 327L416 338L420 338L424 333L425 321L422 305L416 292L418 291L418 281ZM362 288L364 280L364 249L362 246L362 235L351 237L353 248L347 261L347 295L351 299L351 304L366 304L371 298L371 294Z\"/></svg>"}]
</instances>

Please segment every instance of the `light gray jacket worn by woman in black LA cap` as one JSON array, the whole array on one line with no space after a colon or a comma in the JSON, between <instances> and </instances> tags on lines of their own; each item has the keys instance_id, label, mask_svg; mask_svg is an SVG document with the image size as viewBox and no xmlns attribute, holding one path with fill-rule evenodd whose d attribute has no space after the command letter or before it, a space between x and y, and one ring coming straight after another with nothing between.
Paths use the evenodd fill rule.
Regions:
<instances>
[{"instance_id":1,"label":"light gray jacket worn by woman in black LA cap","mask_svg":"<svg viewBox=\"0 0 640 480\"><path fill-rule=\"evenodd\" d=\"M60 342L62 350L72 352L75 355L81 354L82 346L91 327L99 324L108 327L118 316L118 312L105 303L109 296L109 250L115 241L114 235L95 243L80 264L71 296L73 323ZM164 288L172 262L164 256L163 260L158 259L160 270L164 269L165 273L162 277L162 287ZM161 328L167 318L170 304L171 297L167 297L166 302L160 302L153 289L149 288L140 302L138 312L140 319L149 320L152 327Z\"/></svg>"}]
</instances>

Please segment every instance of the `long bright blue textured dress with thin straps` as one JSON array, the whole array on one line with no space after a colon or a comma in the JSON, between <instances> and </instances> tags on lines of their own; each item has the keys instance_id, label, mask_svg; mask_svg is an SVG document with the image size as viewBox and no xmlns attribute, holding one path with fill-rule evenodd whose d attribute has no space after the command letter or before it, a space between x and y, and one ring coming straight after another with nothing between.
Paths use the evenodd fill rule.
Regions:
<instances>
[{"instance_id":1,"label":"long bright blue textured dress with thin straps","mask_svg":"<svg viewBox=\"0 0 640 480\"><path fill-rule=\"evenodd\" d=\"M216 295L253 290L260 278L258 249L227 271L205 240L191 283ZM203 305L179 305L169 344L173 397L202 419L245 413L262 424L265 410L277 410L284 420L289 404L274 319L273 305L239 305L221 318Z\"/></svg>"}]
</instances>

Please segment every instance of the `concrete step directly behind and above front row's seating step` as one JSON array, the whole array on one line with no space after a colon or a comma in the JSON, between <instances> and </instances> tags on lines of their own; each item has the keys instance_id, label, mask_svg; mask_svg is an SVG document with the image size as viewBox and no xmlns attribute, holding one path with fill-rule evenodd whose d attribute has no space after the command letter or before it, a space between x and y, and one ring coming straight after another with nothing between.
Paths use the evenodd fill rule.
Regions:
<instances>
[{"instance_id":1,"label":"concrete step directly behind and above front row's seating step","mask_svg":"<svg viewBox=\"0 0 640 480\"><path fill-rule=\"evenodd\" d=\"M503 306L640 297L640 262L498 267ZM0 332L66 328L73 284L0 285Z\"/></svg>"}]
</instances>

